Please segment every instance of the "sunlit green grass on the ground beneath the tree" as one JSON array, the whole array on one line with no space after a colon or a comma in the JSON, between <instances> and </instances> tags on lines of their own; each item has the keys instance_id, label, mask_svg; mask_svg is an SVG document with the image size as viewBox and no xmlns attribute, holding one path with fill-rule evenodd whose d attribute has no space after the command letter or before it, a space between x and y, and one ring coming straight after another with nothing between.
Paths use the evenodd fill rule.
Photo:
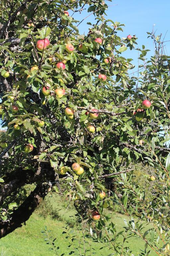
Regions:
<instances>
[{"instance_id":1,"label":"sunlit green grass on the ground beneath the tree","mask_svg":"<svg viewBox=\"0 0 170 256\"><path fill-rule=\"evenodd\" d=\"M43 218L40 217L37 212L33 213L26 225L23 225L22 228L18 228L13 233L0 240L0 255L3 248L3 251L5 251L4 256L53 256L53 252L49 250L49 246L44 242L44 237L41 233L45 226L47 226L47 229L51 229L52 235L57 238L56 244L60 247L59 255L62 253L69 255L68 253L70 252L70 248L68 250L68 241L65 239L65 235L62 235L62 232L64 230L63 227L67 225L66 222L68 223L71 221L70 215L74 216L76 211L74 208L70 207L69 204L67 210L65 207L61 207L62 201L58 197L49 197L47 200L50 200L54 208L59 212L59 220L51 219L50 216ZM116 224L118 232L125 226L124 219L127 221L129 220L127 216L118 213L112 213L111 217L113 222ZM74 228L74 230L76 232L76 228ZM130 238L128 241L128 246L133 251L134 255L138 255L140 248L144 249L143 241L136 240L134 237ZM94 255L106 256L111 253L108 249L103 249L102 251L99 250L102 246L99 243L91 242L91 245L95 248ZM151 255L154 254L150 254L150 256Z\"/></svg>"}]
</instances>

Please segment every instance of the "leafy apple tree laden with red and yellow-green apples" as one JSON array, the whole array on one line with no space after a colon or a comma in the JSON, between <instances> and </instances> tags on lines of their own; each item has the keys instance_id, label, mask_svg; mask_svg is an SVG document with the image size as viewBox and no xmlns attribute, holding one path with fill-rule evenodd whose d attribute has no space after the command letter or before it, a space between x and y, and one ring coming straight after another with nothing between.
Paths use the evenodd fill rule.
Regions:
<instances>
[{"instance_id":1,"label":"leafy apple tree laden with red and yellow-green apples","mask_svg":"<svg viewBox=\"0 0 170 256\"><path fill-rule=\"evenodd\" d=\"M76 20L84 9L89 14ZM123 53L137 38L122 38L124 25L108 20L107 9L101 0L1 3L0 115L7 129L0 144L0 237L21 227L51 189L80 205L88 201L86 217L98 220L98 229L106 195L129 215L151 214L160 222L156 230L168 226L157 217L169 212L169 57L150 34L155 56L147 61L148 50L138 49L144 64L133 73ZM94 24L81 34L89 15ZM135 163L152 168L148 182L160 181L159 199L150 205L133 183Z\"/></svg>"}]
</instances>

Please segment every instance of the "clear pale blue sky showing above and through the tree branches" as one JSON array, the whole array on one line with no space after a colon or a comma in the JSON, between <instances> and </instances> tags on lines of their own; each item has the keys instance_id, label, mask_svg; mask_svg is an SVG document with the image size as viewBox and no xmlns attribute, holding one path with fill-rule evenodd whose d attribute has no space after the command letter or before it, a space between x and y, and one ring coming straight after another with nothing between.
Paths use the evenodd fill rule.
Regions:
<instances>
[{"instance_id":1,"label":"clear pale blue sky showing above and through the tree branches","mask_svg":"<svg viewBox=\"0 0 170 256\"><path fill-rule=\"evenodd\" d=\"M153 41L148 38L147 33L151 32L154 25L154 31L156 35L160 33L163 36L166 34L165 40L170 40L170 1L169 0L114 0L112 2L106 1L108 5L115 5L108 7L107 18L112 19L114 22L118 21L125 24L124 32L119 32L121 37L126 37L128 34L136 35L138 37L138 47L141 48L142 44L145 45L146 49L151 50L148 52L150 57L153 51ZM84 11L81 14L75 13L74 18L82 20L87 16ZM91 15L89 18L84 20L79 26L79 32L83 34L88 32L87 22L93 22L94 17ZM167 31L168 30L168 31ZM136 47L137 48L137 45ZM170 42L166 43L167 55L170 52ZM123 53L126 58L132 58L133 64L138 64L138 51L126 51ZM135 69L133 69L135 71Z\"/></svg>"}]
</instances>

